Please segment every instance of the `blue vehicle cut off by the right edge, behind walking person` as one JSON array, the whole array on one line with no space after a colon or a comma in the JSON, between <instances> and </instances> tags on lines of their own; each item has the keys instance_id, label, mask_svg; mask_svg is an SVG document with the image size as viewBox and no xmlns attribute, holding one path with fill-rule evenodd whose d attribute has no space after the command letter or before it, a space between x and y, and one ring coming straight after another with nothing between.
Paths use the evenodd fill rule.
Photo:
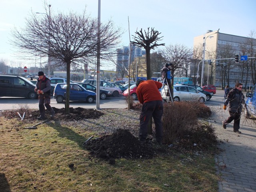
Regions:
<instances>
[{"instance_id":1,"label":"blue vehicle cut off by the right edge, behind walking person","mask_svg":"<svg viewBox=\"0 0 256 192\"><path fill-rule=\"evenodd\" d=\"M245 117L256 118L256 84L252 88L251 92L246 93L247 100L245 102Z\"/></svg>"}]
</instances>

